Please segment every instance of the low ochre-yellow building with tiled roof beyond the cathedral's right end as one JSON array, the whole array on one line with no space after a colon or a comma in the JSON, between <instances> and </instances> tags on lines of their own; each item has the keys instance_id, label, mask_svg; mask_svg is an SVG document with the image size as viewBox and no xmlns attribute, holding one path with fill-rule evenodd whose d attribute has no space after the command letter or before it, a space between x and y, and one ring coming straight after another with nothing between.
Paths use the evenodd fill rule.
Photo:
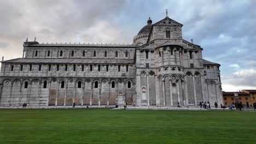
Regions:
<instances>
[{"instance_id":1,"label":"low ochre-yellow building with tiled roof beyond the cathedral's right end","mask_svg":"<svg viewBox=\"0 0 256 144\"><path fill-rule=\"evenodd\" d=\"M255 97L254 97L255 98ZM251 102L251 97L248 92L224 92L223 91L223 101L224 105L230 105L237 103L242 104L243 106L253 106Z\"/></svg>"}]
</instances>

